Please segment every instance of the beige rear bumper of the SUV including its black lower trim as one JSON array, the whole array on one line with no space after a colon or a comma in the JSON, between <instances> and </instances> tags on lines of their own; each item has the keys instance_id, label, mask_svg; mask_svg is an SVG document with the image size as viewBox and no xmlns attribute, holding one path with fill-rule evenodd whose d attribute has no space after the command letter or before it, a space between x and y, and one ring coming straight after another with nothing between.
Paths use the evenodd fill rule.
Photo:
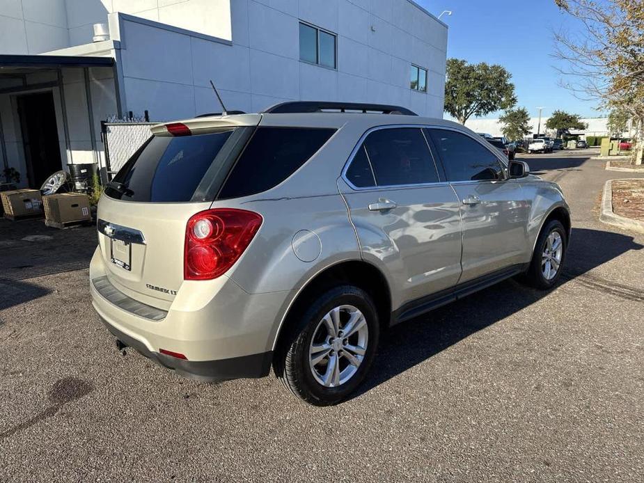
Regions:
<instances>
[{"instance_id":1,"label":"beige rear bumper of the SUV including its black lower trim","mask_svg":"<svg viewBox=\"0 0 644 483\"><path fill-rule=\"evenodd\" d=\"M114 293L116 285L110 290L102 287L97 281L109 283L106 275L97 249L90 264L92 304L124 345L179 374L206 381L269 373L275 333L290 292L249 294L221 276L184 282L167 310L160 310ZM162 354L162 349L187 360Z\"/></svg>"}]
</instances>

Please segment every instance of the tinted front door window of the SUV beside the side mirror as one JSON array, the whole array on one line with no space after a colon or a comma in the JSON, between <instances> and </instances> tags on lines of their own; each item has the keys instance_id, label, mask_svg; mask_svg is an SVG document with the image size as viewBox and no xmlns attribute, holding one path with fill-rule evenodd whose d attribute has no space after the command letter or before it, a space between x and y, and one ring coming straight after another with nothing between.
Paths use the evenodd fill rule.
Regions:
<instances>
[{"instance_id":1,"label":"tinted front door window of the SUV beside the side mirror","mask_svg":"<svg viewBox=\"0 0 644 483\"><path fill-rule=\"evenodd\" d=\"M498 158L460 132L427 129L450 181L497 180L503 177Z\"/></svg>"}]
</instances>

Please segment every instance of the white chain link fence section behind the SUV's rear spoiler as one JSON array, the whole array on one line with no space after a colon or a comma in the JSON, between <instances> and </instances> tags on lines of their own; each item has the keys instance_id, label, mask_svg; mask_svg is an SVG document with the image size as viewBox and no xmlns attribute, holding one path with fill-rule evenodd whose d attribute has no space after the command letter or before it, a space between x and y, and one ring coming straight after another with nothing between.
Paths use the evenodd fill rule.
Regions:
<instances>
[{"instance_id":1,"label":"white chain link fence section behind the SUV's rear spoiler","mask_svg":"<svg viewBox=\"0 0 644 483\"><path fill-rule=\"evenodd\" d=\"M136 150L152 136L150 127L156 122L101 122L108 179L123 167Z\"/></svg>"}]
</instances>

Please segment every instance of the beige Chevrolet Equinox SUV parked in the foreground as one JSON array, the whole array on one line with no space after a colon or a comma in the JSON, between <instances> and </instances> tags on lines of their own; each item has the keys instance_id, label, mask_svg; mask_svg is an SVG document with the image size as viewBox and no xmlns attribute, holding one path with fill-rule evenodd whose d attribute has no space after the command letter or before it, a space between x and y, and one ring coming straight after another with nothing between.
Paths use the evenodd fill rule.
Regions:
<instances>
[{"instance_id":1,"label":"beige Chevrolet Equinox SUV parked in the foreground","mask_svg":"<svg viewBox=\"0 0 644 483\"><path fill-rule=\"evenodd\" d=\"M466 127L290 102L153 127L97 228L93 305L119 347L206 381L273 367L327 405L389 326L511 276L552 287L570 215Z\"/></svg>"}]
</instances>

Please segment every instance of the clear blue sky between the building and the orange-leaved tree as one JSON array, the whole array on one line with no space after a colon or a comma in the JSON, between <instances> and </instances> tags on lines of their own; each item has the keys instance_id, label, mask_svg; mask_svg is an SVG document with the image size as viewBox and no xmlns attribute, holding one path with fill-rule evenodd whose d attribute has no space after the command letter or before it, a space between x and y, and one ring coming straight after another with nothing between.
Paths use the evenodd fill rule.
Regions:
<instances>
[{"instance_id":1,"label":"clear blue sky between the building and the orange-leaved tree","mask_svg":"<svg viewBox=\"0 0 644 483\"><path fill-rule=\"evenodd\" d=\"M571 17L561 13L554 0L416 0L437 17L443 10L448 24L447 56L470 63L500 64L512 74L517 106L531 116L543 116L561 109L584 118L605 115L596 103L584 102L558 85L560 74L554 65L553 31L572 29ZM485 118L496 118L491 113Z\"/></svg>"}]
</instances>

